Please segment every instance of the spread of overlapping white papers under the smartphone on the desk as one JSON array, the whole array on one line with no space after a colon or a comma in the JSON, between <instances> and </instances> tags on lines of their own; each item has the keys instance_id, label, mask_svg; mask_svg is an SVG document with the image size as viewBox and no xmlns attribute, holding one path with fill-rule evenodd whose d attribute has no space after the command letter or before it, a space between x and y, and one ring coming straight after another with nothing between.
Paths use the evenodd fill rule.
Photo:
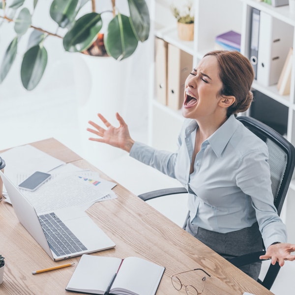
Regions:
<instances>
[{"instance_id":1,"label":"spread of overlapping white papers under the smartphone on the desk","mask_svg":"<svg viewBox=\"0 0 295 295\"><path fill-rule=\"evenodd\" d=\"M0 153L0 156L6 163L5 175L15 185L35 171L49 172L52 175L36 191L22 190L37 213L72 206L86 210L95 202L117 198L112 192L116 183L102 179L97 172L66 164L30 145L11 148ZM99 184L93 185L91 179ZM11 204L5 187L3 195L5 201Z\"/></svg>"}]
</instances>

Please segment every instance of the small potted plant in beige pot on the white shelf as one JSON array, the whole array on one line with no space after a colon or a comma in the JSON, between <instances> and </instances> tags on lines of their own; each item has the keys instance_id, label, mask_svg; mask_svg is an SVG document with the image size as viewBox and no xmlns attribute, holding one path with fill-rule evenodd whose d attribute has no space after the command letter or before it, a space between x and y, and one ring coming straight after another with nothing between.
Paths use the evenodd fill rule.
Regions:
<instances>
[{"instance_id":1,"label":"small potted plant in beige pot on the white shelf","mask_svg":"<svg viewBox=\"0 0 295 295\"><path fill-rule=\"evenodd\" d=\"M178 37L184 41L194 39L194 7L193 0L177 1L171 4L171 10L177 19Z\"/></svg>"}]
</instances>

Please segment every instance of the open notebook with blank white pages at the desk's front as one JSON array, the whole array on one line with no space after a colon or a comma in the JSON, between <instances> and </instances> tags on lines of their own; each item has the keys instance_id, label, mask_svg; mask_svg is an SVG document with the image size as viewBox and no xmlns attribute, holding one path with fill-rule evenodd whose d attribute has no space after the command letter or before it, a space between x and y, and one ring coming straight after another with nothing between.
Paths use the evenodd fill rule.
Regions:
<instances>
[{"instance_id":1,"label":"open notebook with blank white pages at the desk's front","mask_svg":"<svg viewBox=\"0 0 295 295\"><path fill-rule=\"evenodd\" d=\"M154 295L165 267L139 257L83 255L65 290L90 294ZM114 279L115 276L115 279Z\"/></svg>"}]
</instances>

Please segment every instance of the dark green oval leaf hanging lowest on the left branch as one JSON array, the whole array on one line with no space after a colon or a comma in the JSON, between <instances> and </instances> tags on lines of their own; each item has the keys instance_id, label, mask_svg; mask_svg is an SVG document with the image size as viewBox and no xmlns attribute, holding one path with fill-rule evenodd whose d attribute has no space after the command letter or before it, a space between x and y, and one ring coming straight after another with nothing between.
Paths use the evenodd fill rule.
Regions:
<instances>
[{"instance_id":1,"label":"dark green oval leaf hanging lowest on the left branch","mask_svg":"<svg viewBox=\"0 0 295 295\"><path fill-rule=\"evenodd\" d=\"M40 82L47 65L47 51L43 46L33 46L24 55L21 79L27 90L34 89Z\"/></svg>"}]
</instances>

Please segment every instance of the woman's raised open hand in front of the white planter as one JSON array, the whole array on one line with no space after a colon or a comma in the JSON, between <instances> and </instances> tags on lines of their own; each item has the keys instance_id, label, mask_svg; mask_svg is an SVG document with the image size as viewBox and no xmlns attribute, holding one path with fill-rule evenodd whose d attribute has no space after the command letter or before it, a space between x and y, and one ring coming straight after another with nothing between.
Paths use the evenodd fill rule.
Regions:
<instances>
[{"instance_id":1,"label":"woman's raised open hand in front of the white planter","mask_svg":"<svg viewBox=\"0 0 295 295\"><path fill-rule=\"evenodd\" d=\"M116 118L119 122L119 127L114 127L101 114L97 114L97 116L102 120L105 127L103 128L94 123L93 121L89 121L89 124L92 125L95 129L87 128L87 131L99 136L99 138L90 137L89 140L105 143L129 152L134 144L134 141L131 139L129 135L128 126L123 120L123 118L118 113L116 113Z\"/></svg>"}]
</instances>

